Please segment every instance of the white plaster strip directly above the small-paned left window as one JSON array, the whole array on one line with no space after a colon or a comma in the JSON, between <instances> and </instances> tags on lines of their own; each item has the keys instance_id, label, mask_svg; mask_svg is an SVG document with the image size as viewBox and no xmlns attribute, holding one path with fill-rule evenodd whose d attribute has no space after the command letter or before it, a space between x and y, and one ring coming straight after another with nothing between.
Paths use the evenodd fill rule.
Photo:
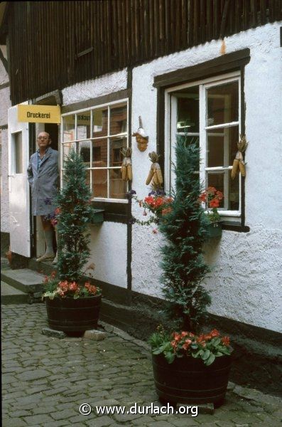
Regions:
<instances>
[{"instance_id":1,"label":"white plaster strip directly above the small-paned left window","mask_svg":"<svg viewBox=\"0 0 282 427\"><path fill-rule=\"evenodd\" d=\"M108 95L127 87L127 70L109 73L102 77L77 83L62 90L63 104L88 100L91 98Z\"/></svg>"}]
</instances>

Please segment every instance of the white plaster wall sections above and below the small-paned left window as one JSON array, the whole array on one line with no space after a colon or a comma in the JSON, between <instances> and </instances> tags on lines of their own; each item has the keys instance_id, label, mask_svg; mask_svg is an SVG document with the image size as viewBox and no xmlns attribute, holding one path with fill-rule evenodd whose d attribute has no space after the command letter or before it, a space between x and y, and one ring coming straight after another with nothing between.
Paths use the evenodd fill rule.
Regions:
<instances>
[{"instance_id":1,"label":"white plaster wall sections above and below the small-paned left window","mask_svg":"<svg viewBox=\"0 0 282 427\"><path fill-rule=\"evenodd\" d=\"M107 95L127 87L127 70L77 83L63 90L63 104ZM127 288L127 226L105 221L101 226L90 226L91 256L97 280Z\"/></svg>"}]
</instances>

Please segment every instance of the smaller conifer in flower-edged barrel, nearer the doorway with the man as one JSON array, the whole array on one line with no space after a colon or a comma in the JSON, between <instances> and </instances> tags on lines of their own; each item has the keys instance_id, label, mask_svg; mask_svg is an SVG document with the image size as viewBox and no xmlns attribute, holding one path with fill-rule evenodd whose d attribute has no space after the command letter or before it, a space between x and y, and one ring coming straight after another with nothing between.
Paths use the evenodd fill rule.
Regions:
<instances>
[{"instance_id":1,"label":"smaller conifer in flower-edged barrel, nearer the doorway with the man","mask_svg":"<svg viewBox=\"0 0 282 427\"><path fill-rule=\"evenodd\" d=\"M101 290L82 280L90 256L88 223L93 216L85 165L72 150L64 162L64 188L57 197L58 273L45 278L48 324L68 334L97 327Z\"/></svg>"}]
</instances>

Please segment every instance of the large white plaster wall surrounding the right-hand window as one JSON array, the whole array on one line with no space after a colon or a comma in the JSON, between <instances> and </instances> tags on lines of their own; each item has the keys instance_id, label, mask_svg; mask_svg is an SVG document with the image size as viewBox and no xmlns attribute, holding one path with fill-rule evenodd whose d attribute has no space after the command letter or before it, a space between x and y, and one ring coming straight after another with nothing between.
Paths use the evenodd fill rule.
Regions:
<instances>
[{"instance_id":1,"label":"large white plaster wall surrounding the right-hand window","mask_svg":"<svg viewBox=\"0 0 282 427\"><path fill-rule=\"evenodd\" d=\"M223 231L220 243L207 245L213 270L206 280L212 292L210 312L251 325L281 331L282 173L281 173L281 23L244 31L225 39L226 53L249 48L245 68L246 102L246 225L249 233ZM133 70L132 130L141 115L149 136L146 152L133 139L133 188L148 194L145 181L156 150L157 93L155 75L168 73L220 56L221 41L212 41L158 58ZM134 206L138 211L138 206ZM139 215L141 212L139 210ZM161 238L151 227L134 226L132 288L161 297Z\"/></svg>"}]
</instances>

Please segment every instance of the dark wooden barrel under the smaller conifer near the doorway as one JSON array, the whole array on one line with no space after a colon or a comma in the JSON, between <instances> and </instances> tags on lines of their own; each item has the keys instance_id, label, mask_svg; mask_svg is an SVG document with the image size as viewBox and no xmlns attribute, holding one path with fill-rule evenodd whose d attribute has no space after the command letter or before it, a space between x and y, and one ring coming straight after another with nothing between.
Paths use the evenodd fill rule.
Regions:
<instances>
[{"instance_id":1,"label":"dark wooden barrel under the smaller conifer near the doorway","mask_svg":"<svg viewBox=\"0 0 282 427\"><path fill-rule=\"evenodd\" d=\"M46 298L48 325L53 330L82 334L97 327L102 295Z\"/></svg>"}]
</instances>

